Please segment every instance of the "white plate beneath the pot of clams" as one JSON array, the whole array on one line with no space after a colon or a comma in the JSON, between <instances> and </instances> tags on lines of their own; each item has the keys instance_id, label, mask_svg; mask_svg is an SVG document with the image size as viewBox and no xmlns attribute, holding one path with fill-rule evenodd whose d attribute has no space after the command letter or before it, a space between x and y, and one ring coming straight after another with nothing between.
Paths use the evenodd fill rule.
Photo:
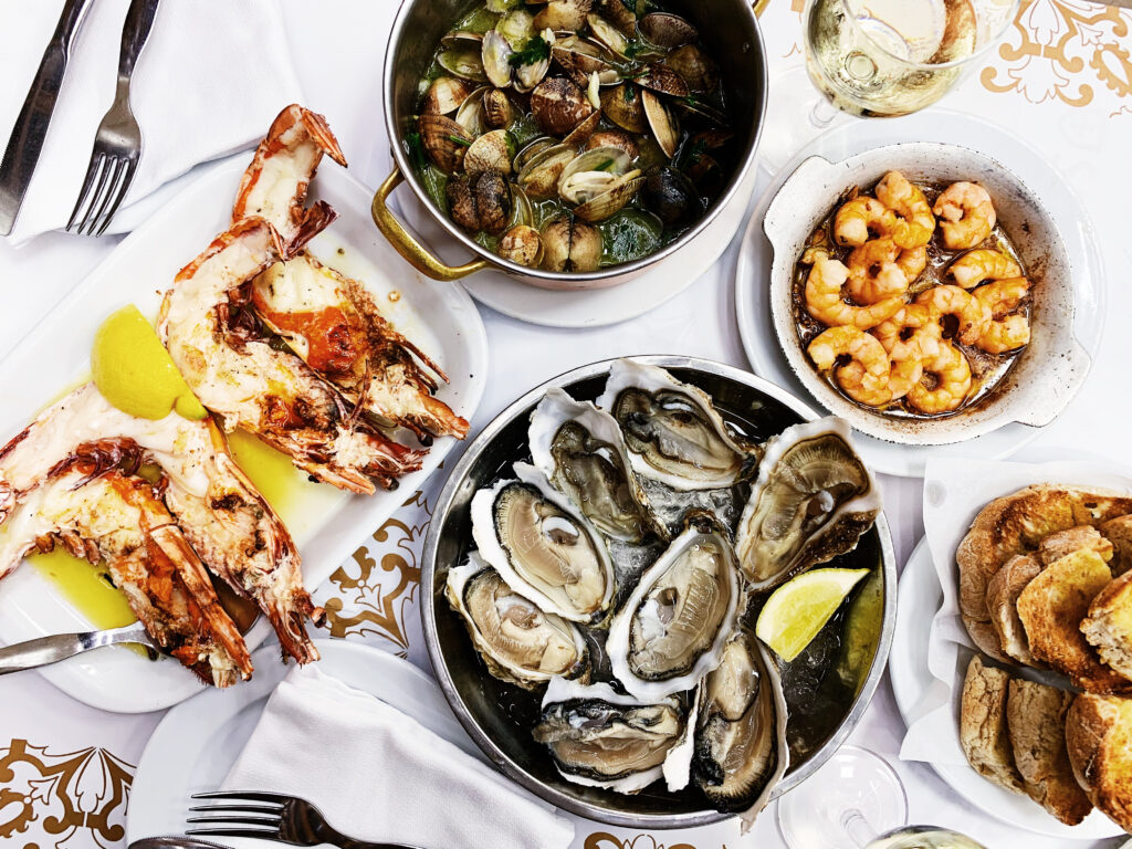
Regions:
<instances>
[{"instance_id":1,"label":"white plate beneath the pot of clams","mask_svg":"<svg viewBox=\"0 0 1132 849\"><path fill-rule=\"evenodd\" d=\"M758 168L752 163L715 221L674 256L626 283L584 292L556 292L532 286L501 272L482 271L464 277L461 284L480 303L505 316L544 327L603 327L636 318L678 295L714 265L746 220L757 179ZM468 261L468 256L461 257L463 249L454 248L455 241L411 191L402 189L398 197L406 220L426 245L438 246L438 252L447 261Z\"/></svg>"}]
</instances>

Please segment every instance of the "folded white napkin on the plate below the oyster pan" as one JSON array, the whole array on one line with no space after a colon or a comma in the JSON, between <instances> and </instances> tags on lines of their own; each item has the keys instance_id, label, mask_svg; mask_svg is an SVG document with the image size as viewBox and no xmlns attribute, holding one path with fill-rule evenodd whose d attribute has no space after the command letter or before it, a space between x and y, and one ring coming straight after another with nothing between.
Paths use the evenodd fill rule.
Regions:
<instances>
[{"instance_id":1,"label":"folded white napkin on the plate below the oyster pan","mask_svg":"<svg viewBox=\"0 0 1132 849\"><path fill-rule=\"evenodd\" d=\"M552 849L574 837L550 805L312 666L276 688L224 788L299 796L352 838L423 849Z\"/></svg>"}]
</instances>

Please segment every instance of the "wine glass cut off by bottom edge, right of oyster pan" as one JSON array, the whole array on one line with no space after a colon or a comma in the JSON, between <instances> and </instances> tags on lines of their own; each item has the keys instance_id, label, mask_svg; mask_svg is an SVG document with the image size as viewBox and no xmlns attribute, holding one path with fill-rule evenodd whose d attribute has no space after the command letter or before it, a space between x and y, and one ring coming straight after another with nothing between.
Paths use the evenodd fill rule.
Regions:
<instances>
[{"instance_id":1,"label":"wine glass cut off by bottom edge, right of oyster pan","mask_svg":"<svg viewBox=\"0 0 1132 849\"><path fill-rule=\"evenodd\" d=\"M908 825L908 796L887 761L842 746L778 803L790 849L985 849L934 825Z\"/></svg>"}]
</instances>

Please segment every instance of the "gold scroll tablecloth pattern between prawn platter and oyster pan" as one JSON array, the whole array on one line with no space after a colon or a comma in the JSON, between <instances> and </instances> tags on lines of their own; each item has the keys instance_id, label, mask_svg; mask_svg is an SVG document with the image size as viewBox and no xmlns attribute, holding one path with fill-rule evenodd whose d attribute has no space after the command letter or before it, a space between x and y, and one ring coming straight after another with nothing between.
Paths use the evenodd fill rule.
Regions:
<instances>
[{"instance_id":1,"label":"gold scroll tablecloth pattern between prawn platter and oyster pan","mask_svg":"<svg viewBox=\"0 0 1132 849\"><path fill-rule=\"evenodd\" d=\"M420 585L421 549L431 520L432 506L418 490L374 531L377 546L362 546L351 563L331 575L338 594L323 600L323 607L332 636L377 637L392 642L396 654L406 655L406 612Z\"/></svg>"}]
</instances>

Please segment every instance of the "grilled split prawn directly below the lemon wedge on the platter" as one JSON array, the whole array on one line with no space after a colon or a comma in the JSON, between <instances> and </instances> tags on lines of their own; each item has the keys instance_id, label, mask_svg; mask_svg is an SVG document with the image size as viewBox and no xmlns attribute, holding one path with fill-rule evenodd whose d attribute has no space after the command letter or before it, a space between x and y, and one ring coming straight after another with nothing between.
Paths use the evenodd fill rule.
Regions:
<instances>
[{"instance_id":1,"label":"grilled split prawn directly below the lemon wedge on the platter","mask_svg":"<svg viewBox=\"0 0 1132 849\"><path fill-rule=\"evenodd\" d=\"M0 523L76 458L93 471L158 465L165 505L208 568L258 604L289 654L318 659L303 623L323 611L303 586L299 551L212 419L137 419L111 406L94 384L82 386L0 448Z\"/></svg>"}]
</instances>

